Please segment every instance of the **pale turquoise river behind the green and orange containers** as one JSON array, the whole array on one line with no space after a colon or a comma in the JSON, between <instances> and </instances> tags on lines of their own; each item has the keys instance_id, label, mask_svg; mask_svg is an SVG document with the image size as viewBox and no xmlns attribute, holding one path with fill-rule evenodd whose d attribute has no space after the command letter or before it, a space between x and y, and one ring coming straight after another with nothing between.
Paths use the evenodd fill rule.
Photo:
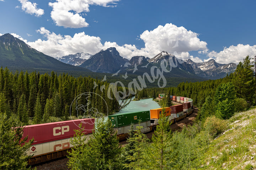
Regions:
<instances>
[{"instance_id":1,"label":"pale turquoise river behind the green and orange containers","mask_svg":"<svg viewBox=\"0 0 256 170\"><path fill-rule=\"evenodd\" d=\"M152 100L152 98L142 99L139 101L131 101L125 108L118 113L130 113L139 111L149 111L150 109L160 108L159 104Z\"/></svg>"}]
</instances>

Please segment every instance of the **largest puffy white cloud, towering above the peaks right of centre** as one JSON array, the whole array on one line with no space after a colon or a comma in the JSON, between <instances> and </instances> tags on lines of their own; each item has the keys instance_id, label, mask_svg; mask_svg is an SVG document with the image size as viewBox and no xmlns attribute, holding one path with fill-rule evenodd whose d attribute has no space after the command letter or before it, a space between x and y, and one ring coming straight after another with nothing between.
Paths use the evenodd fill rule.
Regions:
<instances>
[{"instance_id":1,"label":"largest puffy white cloud, towering above the peaks right of centre","mask_svg":"<svg viewBox=\"0 0 256 170\"><path fill-rule=\"evenodd\" d=\"M158 26L154 30L144 31L140 39L145 42L145 51L159 53L168 51L178 54L188 51L208 50L207 43L200 41L198 34L172 23Z\"/></svg>"}]
</instances>

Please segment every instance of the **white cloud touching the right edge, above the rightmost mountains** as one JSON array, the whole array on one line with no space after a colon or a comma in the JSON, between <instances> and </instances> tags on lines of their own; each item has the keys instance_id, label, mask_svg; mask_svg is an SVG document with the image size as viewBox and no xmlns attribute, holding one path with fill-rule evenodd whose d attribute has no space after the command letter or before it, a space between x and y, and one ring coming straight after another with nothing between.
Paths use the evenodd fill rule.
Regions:
<instances>
[{"instance_id":1,"label":"white cloud touching the right edge, above the rightmost mountains","mask_svg":"<svg viewBox=\"0 0 256 170\"><path fill-rule=\"evenodd\" d=\"M251 58L253 58L256 55L256 45L231 45L228 48L225 47L223 51L211 51L208 53L209 58L213 58L218 63L232 62L236 64L242 61L247 55L249 55Z\"/></svg>"}]
</instances>

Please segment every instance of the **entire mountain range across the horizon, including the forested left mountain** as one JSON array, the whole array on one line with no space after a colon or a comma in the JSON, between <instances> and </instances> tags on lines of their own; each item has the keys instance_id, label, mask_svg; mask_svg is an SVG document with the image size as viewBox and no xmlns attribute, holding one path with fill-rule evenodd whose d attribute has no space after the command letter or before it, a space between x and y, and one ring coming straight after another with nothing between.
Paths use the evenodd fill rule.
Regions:
<instances>
[{"instance_id":1,"label":"entire mountain range across the horizon, including the forested left mountain","mask_svg":"<svg viewBox=\"0 0 256 170\"><path fill-rule=\"evenodd\" d=\"M132 78L143 73L151 75L151 68L160 68L162 61L174 61L174 65L177 66L170 72L164 73L165 77L183 78L183 80L186 78L188 81L222 78L234 72L236 68L235 63L219 64L214 60L203 63L195 63L190 59L183 61L166 51L162 51L151 59L134 56L128 60L121 57L115 47L101 50L95 55L81 52L63 56L57 60L33 49L11 34L0 36L0 63L2 67L8 67L11 70L55 71L76 75L100 75L99 77L109 73L112 77L119 74L121 78L122 75L128 74Z\"/></svg>"}]
</instances>

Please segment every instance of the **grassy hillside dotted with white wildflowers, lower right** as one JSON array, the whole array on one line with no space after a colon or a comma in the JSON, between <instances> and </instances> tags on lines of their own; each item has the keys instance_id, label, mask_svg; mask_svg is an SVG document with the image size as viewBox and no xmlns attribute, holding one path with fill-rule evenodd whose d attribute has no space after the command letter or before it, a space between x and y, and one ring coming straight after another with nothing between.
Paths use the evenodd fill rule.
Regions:
<instances>
[{"instance_id":1,"label":"grassy hillside dotted with white wildflowers, lower right","mask_svg":"<svg viewBox=\"0 0 256 170\"><path fill-rule=\"evenodd\" d=\"M256 169L256 109L225 120L228 129L210 141L201 157L201 169Z\"/></svg>"}]
</instances>

